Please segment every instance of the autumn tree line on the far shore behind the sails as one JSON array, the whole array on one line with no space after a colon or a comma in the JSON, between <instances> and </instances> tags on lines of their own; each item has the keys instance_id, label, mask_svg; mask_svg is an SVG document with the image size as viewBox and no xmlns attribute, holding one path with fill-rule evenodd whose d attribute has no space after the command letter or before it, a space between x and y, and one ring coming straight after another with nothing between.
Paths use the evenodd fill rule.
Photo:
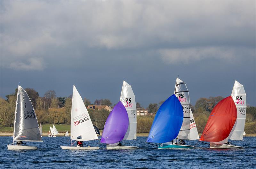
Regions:
<instances>
[{"instance_id":1,"label":"autumn tree line on the far shore behind the sails","mask_svg":"<svg viewBox=\"0 0 256 169\"><path fill-rule=\"evenodd\" d=\"M72 95L68 97L57 97L54 90L48 90L44 96L40 97L38 92L33 88L25 88L33 106L36 111L37 119L39 123L54 123L54 124L70 124ZM13 94L6 95L6 100L0 98L0 125L10 127L14 120L14 111L16 104L17 91ZM197 130L202 133L204 126L208 120L208 117L213 107L222 100L222 96L199 98L196 101L195 106L191 105L191 111L193 112L196 122ZM150 103L147 107L149 115L145 117L138 116L137 118L137 131L139 133L149 132L154 120L154 115L164 101L159 103ZM109 99L96 99L93 103L87 98L84 98L85 106L88 105L108 105L112 106ZM115 106L115 104L113 105ZM139 102L136 103L137 108L141 108ZM89 115L92 119L92 123L99 129L103 129L105 121L109 115L109 111L92 110L88 109ZM246 110L246 123L249 132L256 133L256 107L247 107ZM254 124L254 125L253 125ZM250 129L249 129L250 128Z\"/></svg>"}]
</instances>

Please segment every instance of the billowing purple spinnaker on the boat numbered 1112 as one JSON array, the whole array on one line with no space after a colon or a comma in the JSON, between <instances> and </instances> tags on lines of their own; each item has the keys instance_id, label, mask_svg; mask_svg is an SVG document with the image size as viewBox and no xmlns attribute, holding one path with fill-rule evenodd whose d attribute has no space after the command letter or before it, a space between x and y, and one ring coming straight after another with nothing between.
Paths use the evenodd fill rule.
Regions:
<instances>
[{"instance_id":1,"label":"billowing purple spinnaker on the boat numbered 1112","mask_svg":"<svg viewBox=\"0 0 256 169\"><path fill-rule=\"evenodd\" d=\"M114 144L123 140L129 126L129 117L122 104L118 102L106 120L100 142Z\"/></svg>"}]
</instances>

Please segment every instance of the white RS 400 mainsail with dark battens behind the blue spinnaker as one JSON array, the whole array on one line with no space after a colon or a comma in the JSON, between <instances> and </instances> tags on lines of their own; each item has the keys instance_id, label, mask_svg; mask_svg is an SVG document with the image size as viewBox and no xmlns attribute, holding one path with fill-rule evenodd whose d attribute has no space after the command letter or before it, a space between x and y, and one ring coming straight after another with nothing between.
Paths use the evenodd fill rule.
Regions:
<instances>
[{"instance_id":1,"label":"white RS 400 mainsail with dark battens behind the blue spinnaker","mask_svg":"<svg viewBox=\"0 0 256 169\"><path fill-rule=\"evenodd\" d=\"M177 136L178 139L188 140L190 131L190 101L188 88L184 81L179 78L176 79L174 94L180 101L183 109L183 122L180 132Z\"/></svg>"}]
</instances>

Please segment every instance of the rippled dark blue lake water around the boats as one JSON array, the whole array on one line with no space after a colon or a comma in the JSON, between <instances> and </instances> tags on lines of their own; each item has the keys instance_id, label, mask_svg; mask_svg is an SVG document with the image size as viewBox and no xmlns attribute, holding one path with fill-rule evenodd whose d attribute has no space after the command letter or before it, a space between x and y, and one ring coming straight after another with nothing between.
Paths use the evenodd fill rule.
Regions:
<instances>
[{"instance_id":1,"label":"rippled dark blue lake water around the boats","mask_svg":"<svg viewBox=\"0 0 256 169\"><path fill-rule=\"evenodd\" d=\"M68 146L69 137L43 137L44 142L28 142L37 150L7 150L11 137L0 137L0 168L256 168L256 137L244 137L244 141L232 144L244 149L209 149L198 141L187 141L196 146L192 150L158 150L146 144L147 137L122 142L123 145L139 146L137 150L106 150L98 140L86 142L99 146L99 150L62 150Z\"/></svg>"}]
</instances>

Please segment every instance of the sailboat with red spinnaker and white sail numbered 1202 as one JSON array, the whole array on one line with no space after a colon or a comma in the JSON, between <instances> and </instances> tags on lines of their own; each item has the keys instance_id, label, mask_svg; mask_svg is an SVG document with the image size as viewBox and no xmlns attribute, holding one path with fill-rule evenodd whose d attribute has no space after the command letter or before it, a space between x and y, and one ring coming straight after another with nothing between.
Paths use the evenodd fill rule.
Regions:
<instances>
[{"instance_id":1,"label":"sailboat with red spinnaker and white sail numbered 1202","mask_svg":"<svg viewBox=\"0 0 256 169\"><path fill-rule=\"evenodd\" d=\"M213 108L200 140L210 142L210 148L244 148L231 145L228 139L243 140L245 116L246 93L235 81L231 96Z\"/></svg>"}]
</instances>

